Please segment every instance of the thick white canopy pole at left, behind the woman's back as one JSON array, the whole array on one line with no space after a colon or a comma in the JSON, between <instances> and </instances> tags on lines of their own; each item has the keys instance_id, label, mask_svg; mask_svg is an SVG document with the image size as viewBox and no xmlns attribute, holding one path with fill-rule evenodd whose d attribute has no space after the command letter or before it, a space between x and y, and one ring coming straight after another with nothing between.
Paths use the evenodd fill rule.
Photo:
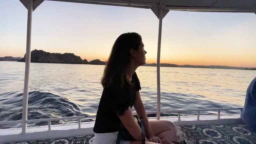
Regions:
<instances>
[{"instance_id":1,"label":"thick white canopy pole at left, behind the woman's back","mask_svg":"<svg viewBox=\"0 0 256 144\"><path fill-rule=\"evenodd\" d=\"M29 1L28 7L28 23L27 23L27 47L26 47L26 66L25 66L25 81L23 91L23 108L22 108L22 133L27 131L28 118L28 82L30 69L30 54L31 54L31 24L32 24L33 0Z\"/></svg>"}]
</instances>

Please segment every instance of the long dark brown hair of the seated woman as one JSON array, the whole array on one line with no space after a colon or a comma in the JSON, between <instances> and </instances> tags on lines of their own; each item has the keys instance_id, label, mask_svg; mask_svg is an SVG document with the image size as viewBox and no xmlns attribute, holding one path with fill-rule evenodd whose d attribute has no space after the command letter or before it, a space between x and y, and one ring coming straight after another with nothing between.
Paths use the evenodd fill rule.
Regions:
<instances>
[{"instance_id":1,"label":"long dark brown hair of the seated woman","mask_svg":"<svg viewBox=\"0 0 256 144\"><path fill-rule=\"evenodd\" d=\"M116 39L101 79L103 87L123 87L127 81L125 68L129 64L130 49L137 51L141 42L141 36L135 32L121 34Z\"/></svg>"}]
</instances>

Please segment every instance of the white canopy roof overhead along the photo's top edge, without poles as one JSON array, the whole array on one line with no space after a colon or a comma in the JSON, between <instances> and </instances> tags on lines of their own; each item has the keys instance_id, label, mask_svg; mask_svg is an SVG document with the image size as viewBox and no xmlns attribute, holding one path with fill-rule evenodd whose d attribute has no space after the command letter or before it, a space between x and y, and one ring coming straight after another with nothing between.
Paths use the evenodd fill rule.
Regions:
<instances>
[{"instance_id":1,"label":"white canopy roof overhead along the photo's top edge, without poles","mask_svg":"<svg viewBox=\"0 0 256 144\"><path fill-rule=\"evenodd\" d=\"M256 12L256 0L51 0L198 12Z\"/></svg>"}]
</instances>

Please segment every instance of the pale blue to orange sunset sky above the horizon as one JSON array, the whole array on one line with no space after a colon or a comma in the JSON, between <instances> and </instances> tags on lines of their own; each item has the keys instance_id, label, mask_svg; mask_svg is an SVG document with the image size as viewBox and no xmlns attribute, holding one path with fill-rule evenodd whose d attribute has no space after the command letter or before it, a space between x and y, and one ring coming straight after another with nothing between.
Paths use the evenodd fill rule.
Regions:
<instances>
[{"instance_id":1,"label":"pale blue to orange sunset sky above the horizon","mask_svg":"<svg viewBox=\"0 0 256 144\"><path fill-rule=\"evenodd\" d=\"M0 0L0 57L26 52L27 9ZM170 11L163 19L161 63L256 67L256 15ZM158 19L150 9L44 1L32 19L31 50L107 60L125 32L142 36L156 63Z\"/></svg>"}]
</instances>

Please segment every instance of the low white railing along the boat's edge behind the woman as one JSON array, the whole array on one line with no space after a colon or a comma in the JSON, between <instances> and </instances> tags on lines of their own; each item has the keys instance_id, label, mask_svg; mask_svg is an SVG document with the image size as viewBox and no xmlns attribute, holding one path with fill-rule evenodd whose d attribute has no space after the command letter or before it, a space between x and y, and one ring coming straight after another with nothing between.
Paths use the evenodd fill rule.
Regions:
<instances>
[{"instance_id":1,"label":"low white railing along the boat's edge behind the woman","mask_svg":"<svg viewBox=\"0 0 256 144\"><path fill-rule=\"evenodd\" d=\"M227 111L227 110L240 110L240 118L242 114L243 108L217 108L217 109L193 109L193 110L172 110L172 111L161 111L161 113L178 113L178 121L181 121L181 113L185 112L197 112L197 120L200 120L200 111L217 111L217 119L220 119L220 112ZM157 111L146 112L146 114L156 114ZM133 114L137 114L134 112ZM33 120L26 120L26 123L33 123L33 122L48 122L48 130L51 130L51 122L52 121L59 121L59 120L78 120L78 129L81 128L81 119L88 119L88 118L95 118L96 115L92 116L76 116L76 117L62 117L62 118L47 118L47 119L33 119ZM19 124L22 123L22 120L17 121L0 121L0 124Z\"/></svg>"}]
</instances>

